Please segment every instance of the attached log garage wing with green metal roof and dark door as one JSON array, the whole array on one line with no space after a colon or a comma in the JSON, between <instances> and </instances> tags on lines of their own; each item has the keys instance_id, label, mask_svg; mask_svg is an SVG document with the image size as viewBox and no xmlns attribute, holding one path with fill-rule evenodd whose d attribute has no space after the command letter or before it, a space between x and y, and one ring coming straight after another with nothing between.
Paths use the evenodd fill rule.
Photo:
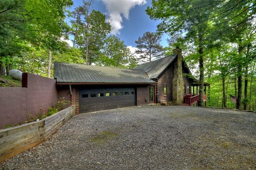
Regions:
<instances>
[{"instance_id":1,"label":"attached log garage wing with green metal roof and dark door","mask_svg":"<svg viewBox=\"0 0 256 170\"><path fill-rule=\"evenodd\" d=\"M142 69L55 62L54 78L76 114L154 102L149 94L156 82Z\"/></svg>"}]
</instances>

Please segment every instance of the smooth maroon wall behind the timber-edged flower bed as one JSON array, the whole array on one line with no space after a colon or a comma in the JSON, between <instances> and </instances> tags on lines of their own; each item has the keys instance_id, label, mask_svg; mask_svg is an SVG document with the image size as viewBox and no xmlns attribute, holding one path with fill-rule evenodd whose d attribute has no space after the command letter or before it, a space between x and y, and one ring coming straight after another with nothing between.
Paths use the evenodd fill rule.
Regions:
<instances>
[{"instance_id":1,"label":"smooth maroon wall behind the timber-edged flower bed","mask_svg":"<svg viewBox=\"0 0 256 170\"><path fill-rule=\"evenodd\" d=\"M22 87L0 87L0 128L31 119L40 109L47 110L57 100L55 79L25 72Z\"/></svg>"}]
</instances>

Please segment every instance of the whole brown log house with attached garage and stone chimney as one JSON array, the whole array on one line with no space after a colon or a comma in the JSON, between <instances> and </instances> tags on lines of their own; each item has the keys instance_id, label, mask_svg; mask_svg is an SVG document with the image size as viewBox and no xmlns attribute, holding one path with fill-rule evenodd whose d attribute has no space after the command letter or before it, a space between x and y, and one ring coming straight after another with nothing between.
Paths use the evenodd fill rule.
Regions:
<instances>
[{"instance_id":1,"label":"whole brown log house with attached garage and stone chimney","mask_svg":"<svg viewBox=\"0 0 256 170\"><path fill-rule=\"evenodd\" d=\"M198 80L191 76L178 47L173 55L135 69L55 62L54 78L59 97L76 104L77 113L157 102L191 105L198 100Z\"/></svg>"}]
</instances>

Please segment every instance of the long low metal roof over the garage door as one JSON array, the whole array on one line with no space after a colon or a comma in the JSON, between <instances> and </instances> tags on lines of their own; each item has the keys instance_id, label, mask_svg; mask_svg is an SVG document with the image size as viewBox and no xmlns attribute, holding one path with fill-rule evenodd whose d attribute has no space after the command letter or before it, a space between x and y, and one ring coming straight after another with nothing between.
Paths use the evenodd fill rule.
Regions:
<instances>
[{"instance_id":1,"label":"long low metal roof over the garage door","mask_svg":"<svg viewBox=\"0 0 256 170\"><path fill-rule=\"evenodd\" d=\"M54 63L54 78L57 83L118 83L118 84L152 84L145 70L90 66L73 63Z\"/></svg>"}]
</instances>

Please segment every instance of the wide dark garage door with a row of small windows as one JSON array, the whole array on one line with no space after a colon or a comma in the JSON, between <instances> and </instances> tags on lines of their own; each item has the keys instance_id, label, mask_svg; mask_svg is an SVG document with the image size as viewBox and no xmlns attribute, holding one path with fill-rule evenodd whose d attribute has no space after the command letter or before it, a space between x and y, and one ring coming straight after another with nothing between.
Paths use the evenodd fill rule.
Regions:
<instances>
[{"instance_id":1,"label":"wide dark garage door with a row of small windows","mask_svg":"<svg viewBox=\"0 0 256 170\"><path fill-rule=\"evenodd\" d=\"M79 90L79 112L136 105L134 88L90 88Z\"/></svg>"}]
</instances>

